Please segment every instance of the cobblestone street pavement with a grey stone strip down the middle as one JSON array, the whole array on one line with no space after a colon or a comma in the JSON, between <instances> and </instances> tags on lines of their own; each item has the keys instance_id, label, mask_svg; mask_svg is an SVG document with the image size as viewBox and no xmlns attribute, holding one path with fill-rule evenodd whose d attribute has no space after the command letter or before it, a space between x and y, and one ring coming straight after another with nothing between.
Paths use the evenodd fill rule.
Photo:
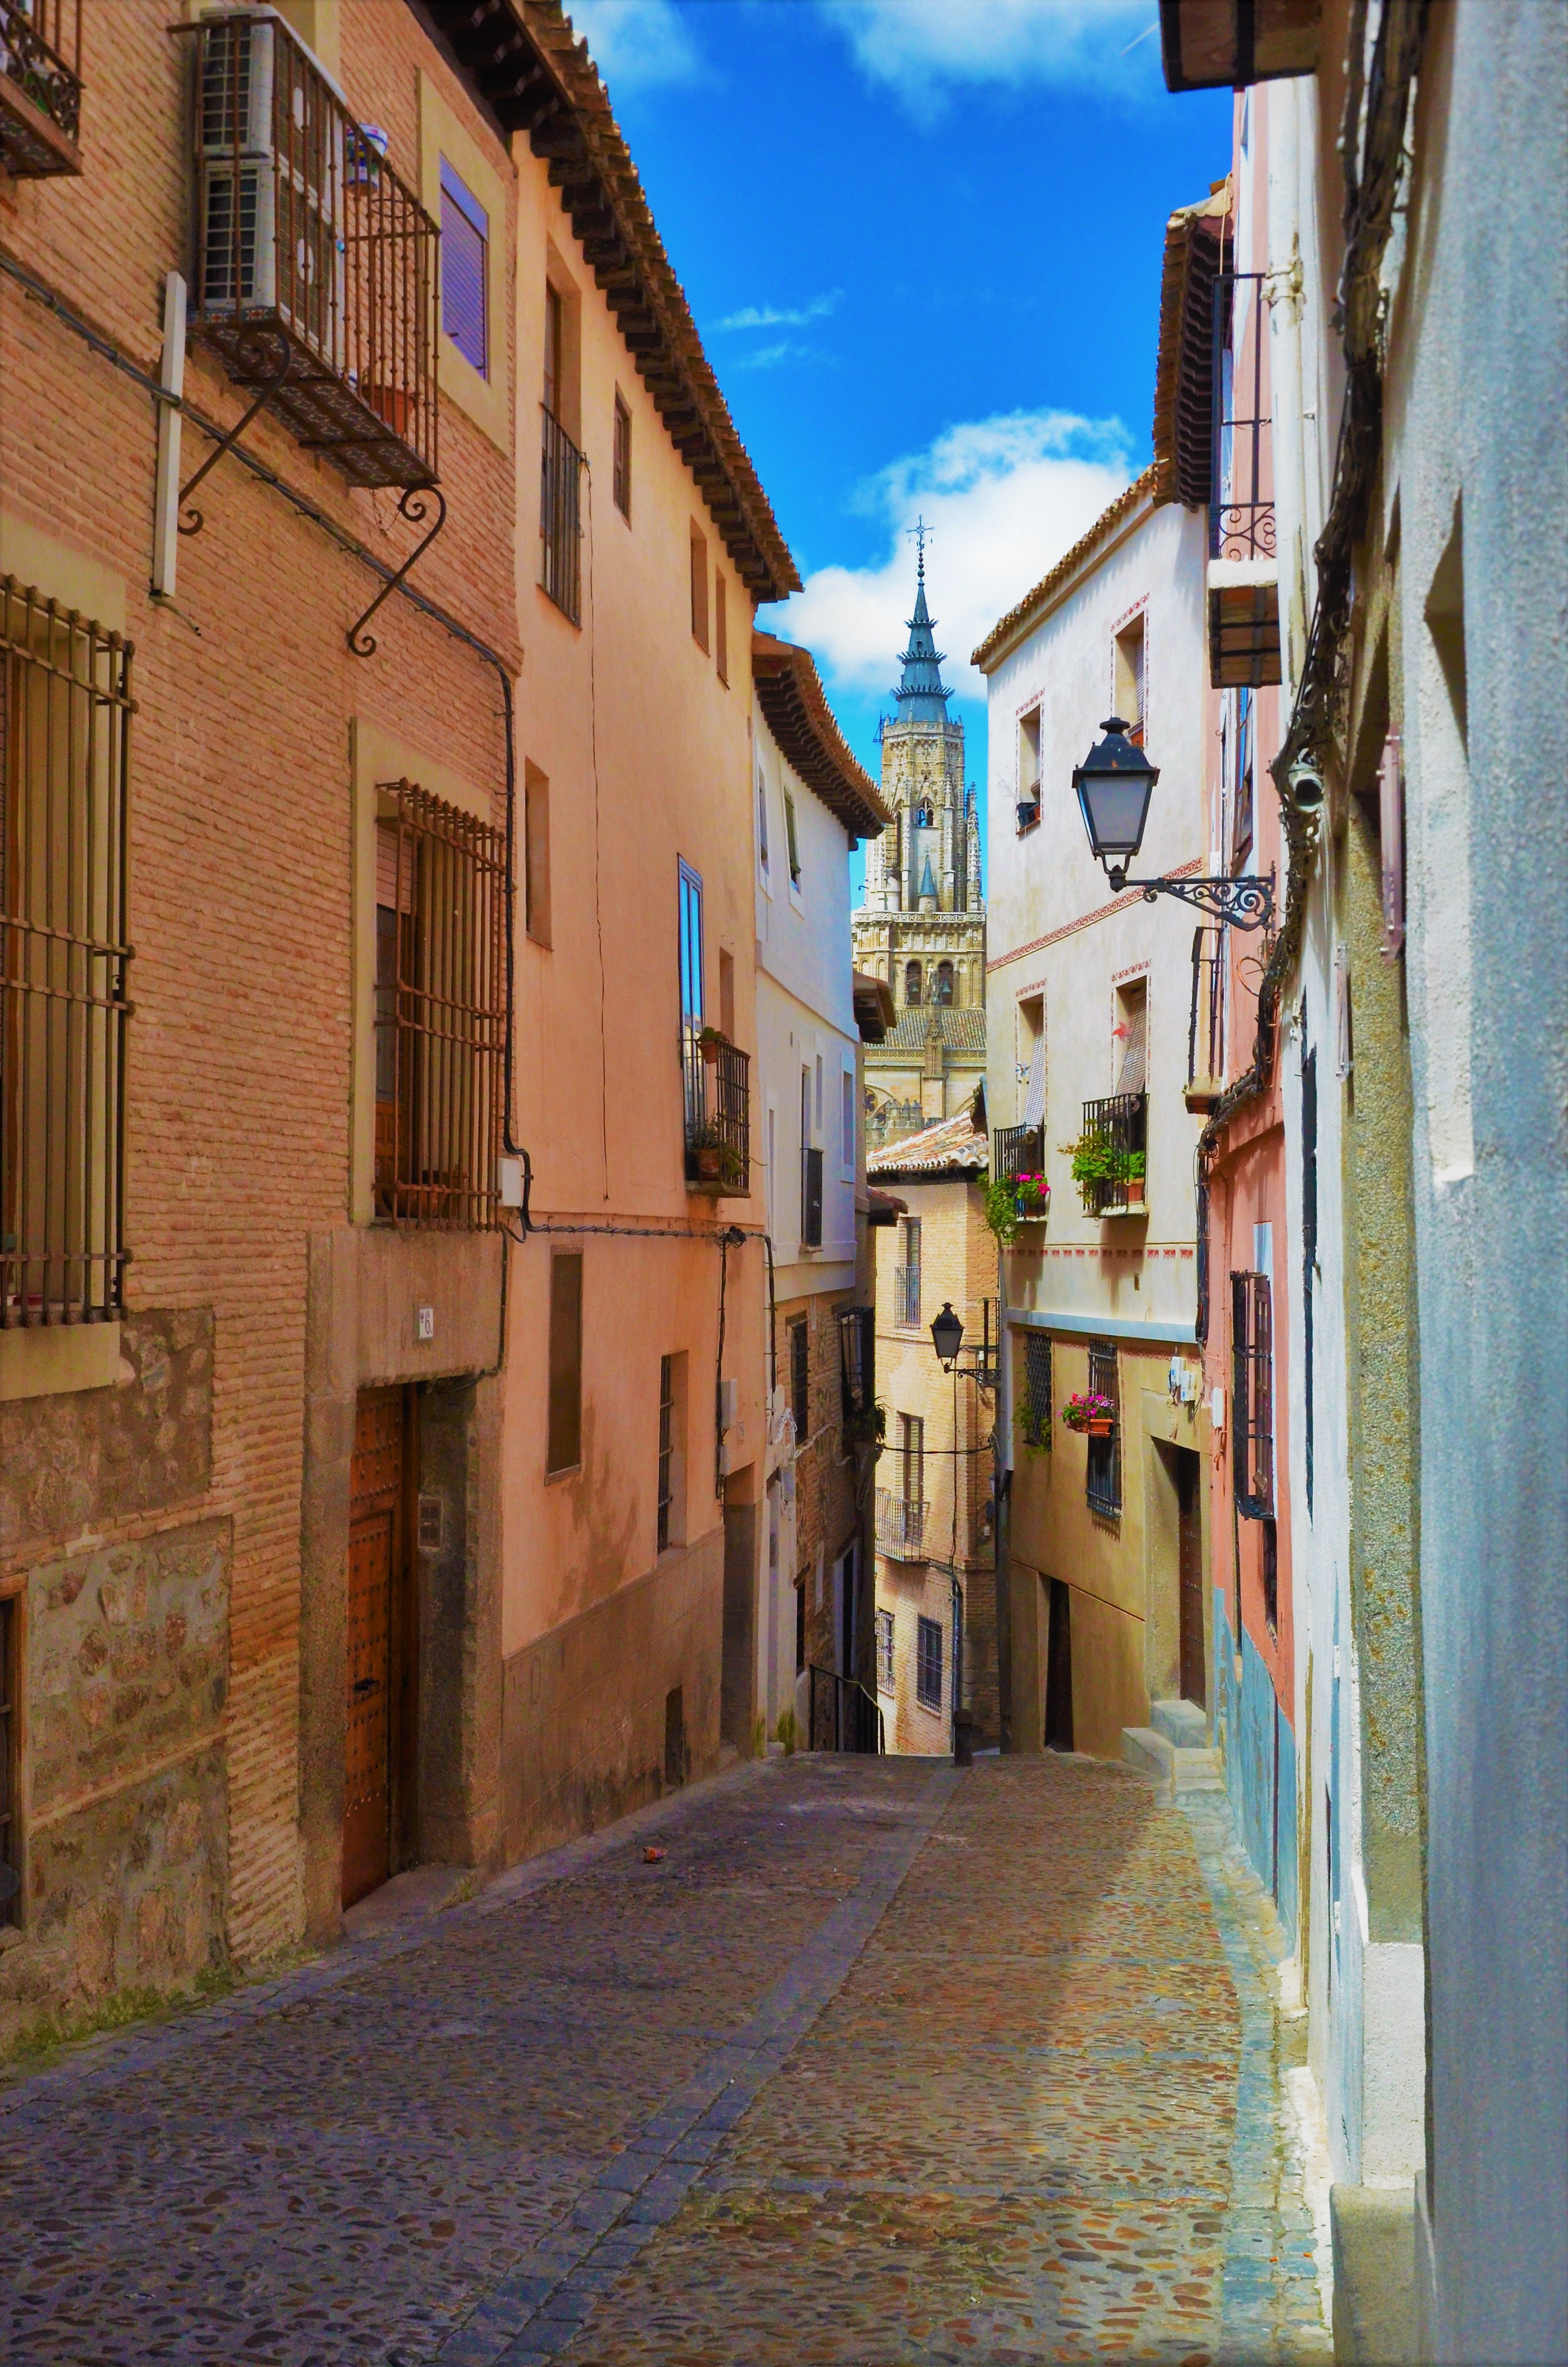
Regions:
<instances>
[{"instance_id":1,"label":"cobblestone street pavement with a grey stone strip down the middle","mask_svg":"<svg viewBox=\"0 0 1568 2367\"><path fill-rule=\"evenodd\" d=\"M738 1771L0 2095L0 2360L1327 2358L1244 1891L1083 1759Z\"/></svg>"}]
</instances>

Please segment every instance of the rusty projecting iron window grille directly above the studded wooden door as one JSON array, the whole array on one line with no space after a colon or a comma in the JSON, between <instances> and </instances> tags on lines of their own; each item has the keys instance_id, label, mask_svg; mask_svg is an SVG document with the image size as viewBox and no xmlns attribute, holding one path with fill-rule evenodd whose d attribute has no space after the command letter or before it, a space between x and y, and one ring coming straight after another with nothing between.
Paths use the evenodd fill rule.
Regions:
<instances>
[{"instance_id":1,"label":"rusty projecting iron window grille directly above the studded wooden door","mask_svg":"<svg viewBox=\"0 0 1568 2367\"><path fill-rule=\"evenodd\" d=\"M506 843L412 781L378 788L376 1214L501 1221Z\"/></svg>"}]
</instances>

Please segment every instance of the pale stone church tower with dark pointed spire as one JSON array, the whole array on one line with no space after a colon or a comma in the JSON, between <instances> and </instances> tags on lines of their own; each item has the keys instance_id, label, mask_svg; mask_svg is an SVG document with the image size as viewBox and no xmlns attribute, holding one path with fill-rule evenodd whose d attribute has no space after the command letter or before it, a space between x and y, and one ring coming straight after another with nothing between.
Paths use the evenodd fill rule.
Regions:
<instances>
[{"instance_id":1,"label":"pale stone church tower with dark pointed spire","mask_svg":"<svg viewBox=\"0 0 1568 2367\"><path fill-rule=\"evenodd\" d=\"M963 724L925 606L925 549L899 679L882 722L892 824L866 852L854 966L887 980L896 1025L866 1053L866 1139L882 1148L955 1117L986 1072L986 907L979 817L963 776Z\"/></svg>"}]
</instances>

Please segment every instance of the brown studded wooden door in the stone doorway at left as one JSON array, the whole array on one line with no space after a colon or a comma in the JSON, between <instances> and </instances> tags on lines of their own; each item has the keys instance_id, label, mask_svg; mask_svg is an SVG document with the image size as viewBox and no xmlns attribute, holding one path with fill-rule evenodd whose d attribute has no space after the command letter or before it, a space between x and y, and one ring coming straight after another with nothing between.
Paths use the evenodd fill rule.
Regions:
<instances>
[{"instance_id":1,"label":"brown studded wooden door in the stone doorway at left","mask_svg":"<svg viewBox=\"0 0 1568 2367\"><path fill-rule=\"evenodd\" d=\"M343 1905L385 1882L393 1849L395 1586L402 1389L364 1389L348 1508Z\"/></svg>"}]
</instances>

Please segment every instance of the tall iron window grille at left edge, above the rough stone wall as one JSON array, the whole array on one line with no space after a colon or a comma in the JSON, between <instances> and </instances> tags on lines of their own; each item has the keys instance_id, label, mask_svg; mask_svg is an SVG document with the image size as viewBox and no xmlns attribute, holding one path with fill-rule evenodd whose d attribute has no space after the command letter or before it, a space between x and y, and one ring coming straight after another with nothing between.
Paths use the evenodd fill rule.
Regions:
<instances>
[{"instance_id":1,"label":"tall iron window grille at left edge, above the rough stone wall","mask_svg":"<svg viewBox=\"0 0 1568 2367\"><path fill-rule=\"evenodd\" d=\"M0 1328L121 1314L130 641L0 575Z\"/></svg>"}]
</instances>

